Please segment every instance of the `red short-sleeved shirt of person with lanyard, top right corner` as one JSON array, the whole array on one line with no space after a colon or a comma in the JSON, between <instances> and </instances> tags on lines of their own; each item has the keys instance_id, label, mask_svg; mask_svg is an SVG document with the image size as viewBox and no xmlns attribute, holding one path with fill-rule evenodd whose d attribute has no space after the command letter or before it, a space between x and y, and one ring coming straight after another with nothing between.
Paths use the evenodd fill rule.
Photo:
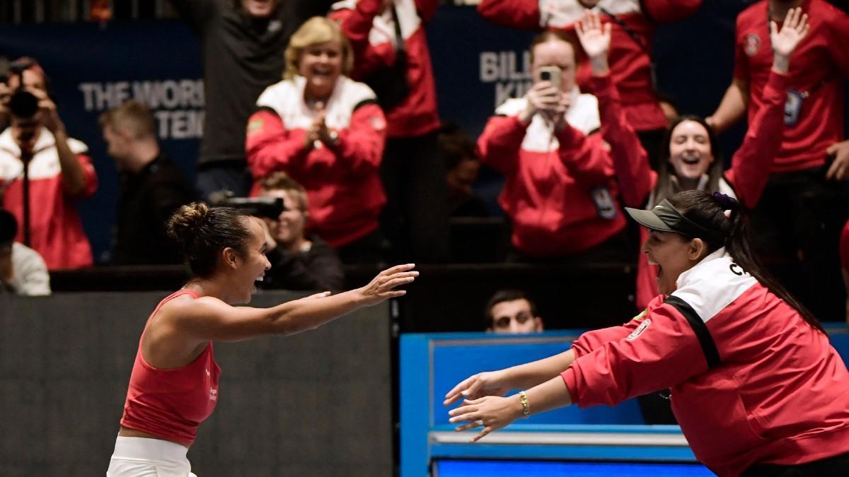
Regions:
<instances>
[{"instance_id":1,"label":"red short-sleeved shirt of person with lanyard, top right corner","mask_svg":"<svg viewBox=\"0 0 849 477\"><path fill-rule=\"evenodd\" d=\"M849 78L849 15L823 0L801 3L808 15L805 40L793 52L788 89L801 93L795 124L784 127L773 172L823 166L825 149L843 139L843 84ZM766 105L764 88L773 64L767 30L767 2L737 17L734 77L749 83L749 121ZM788 95L790 109L790 95Z\"/></svg>"}]
</instances>

